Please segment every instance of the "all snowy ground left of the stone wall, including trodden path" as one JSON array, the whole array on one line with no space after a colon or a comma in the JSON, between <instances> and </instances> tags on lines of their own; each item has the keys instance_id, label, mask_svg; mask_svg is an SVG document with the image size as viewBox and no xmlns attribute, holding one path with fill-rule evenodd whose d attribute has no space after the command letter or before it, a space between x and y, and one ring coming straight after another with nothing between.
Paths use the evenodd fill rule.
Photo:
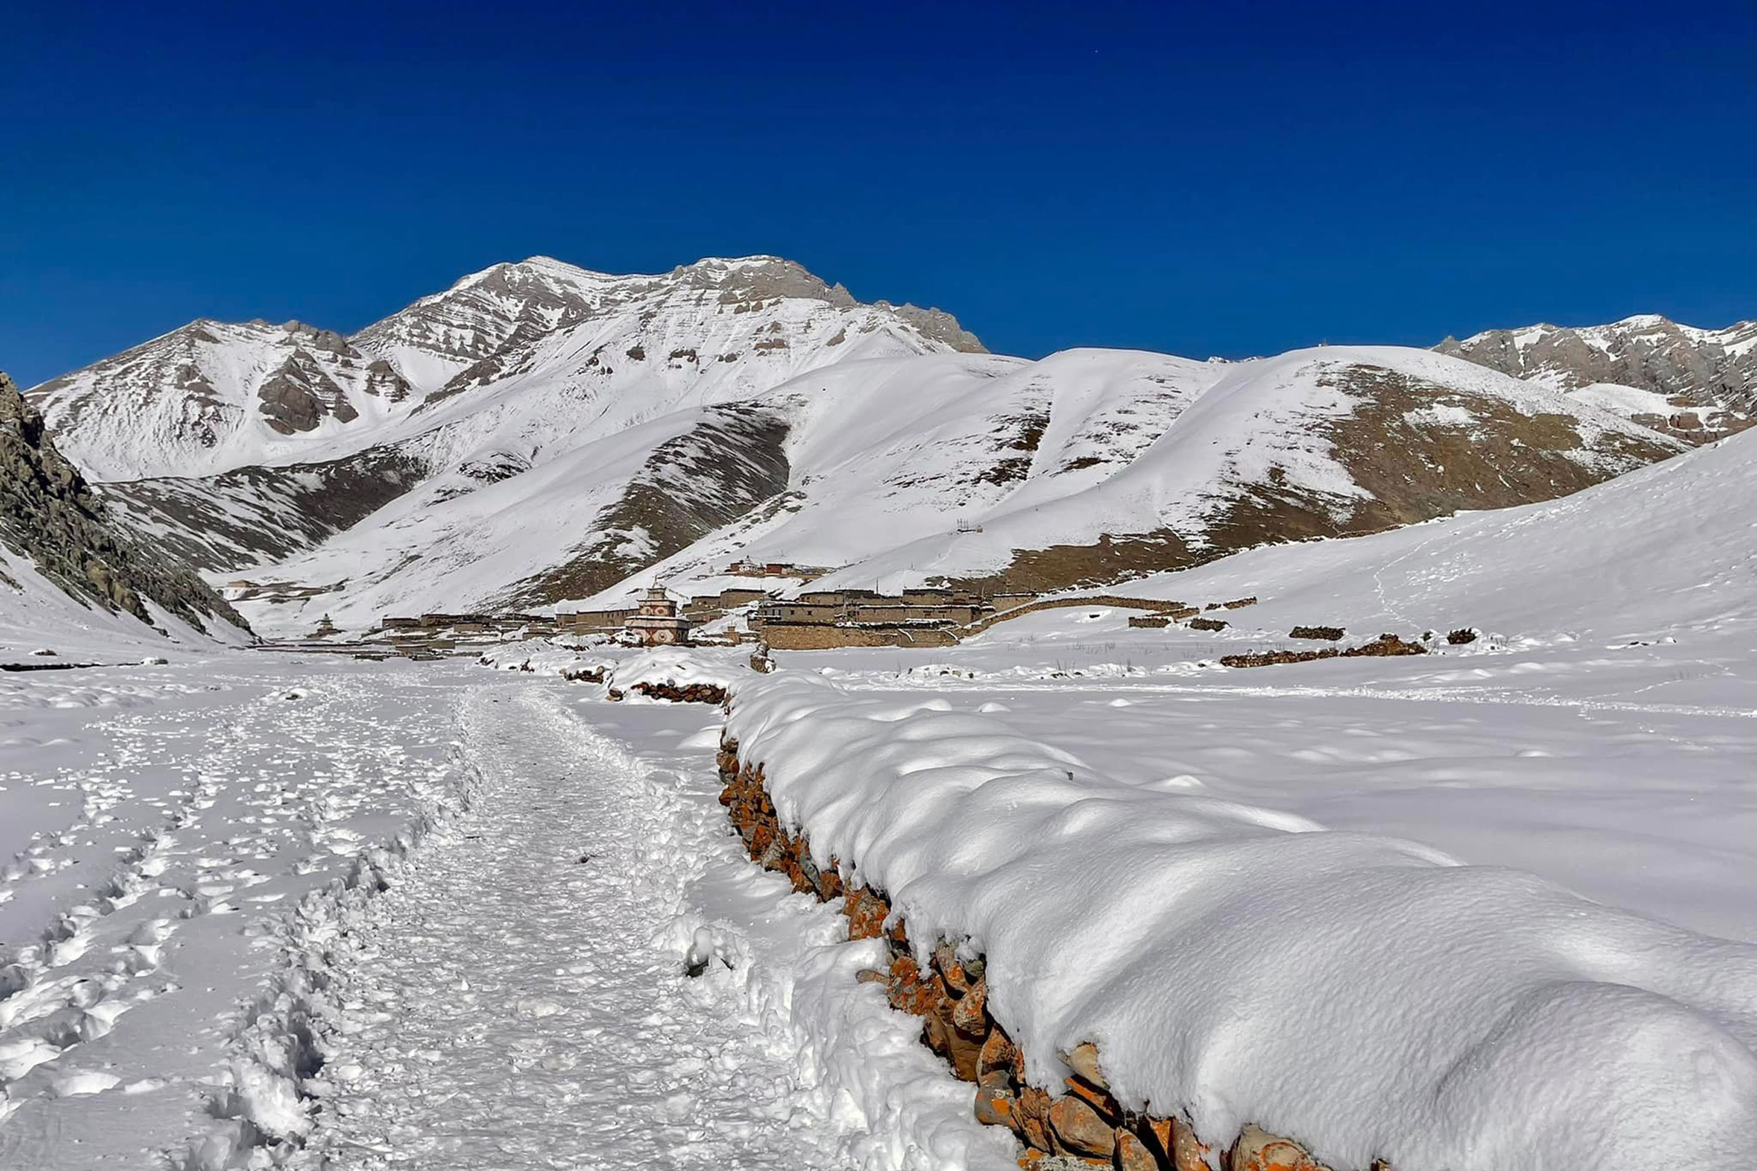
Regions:
<instances>
[{"instance_id":1,"label":"all snowy ground left of the stone wall, including trodden path","mask_svg":"<svg viewBox=\"0 0 1757 1171\"><path fill-rule=\"evenodd\" d=\"M0 1164L1012 1166L856 980L882 945L734 850L717 709L262 653L83 679L4 713Z\"/></svg>"}]
</instances>

